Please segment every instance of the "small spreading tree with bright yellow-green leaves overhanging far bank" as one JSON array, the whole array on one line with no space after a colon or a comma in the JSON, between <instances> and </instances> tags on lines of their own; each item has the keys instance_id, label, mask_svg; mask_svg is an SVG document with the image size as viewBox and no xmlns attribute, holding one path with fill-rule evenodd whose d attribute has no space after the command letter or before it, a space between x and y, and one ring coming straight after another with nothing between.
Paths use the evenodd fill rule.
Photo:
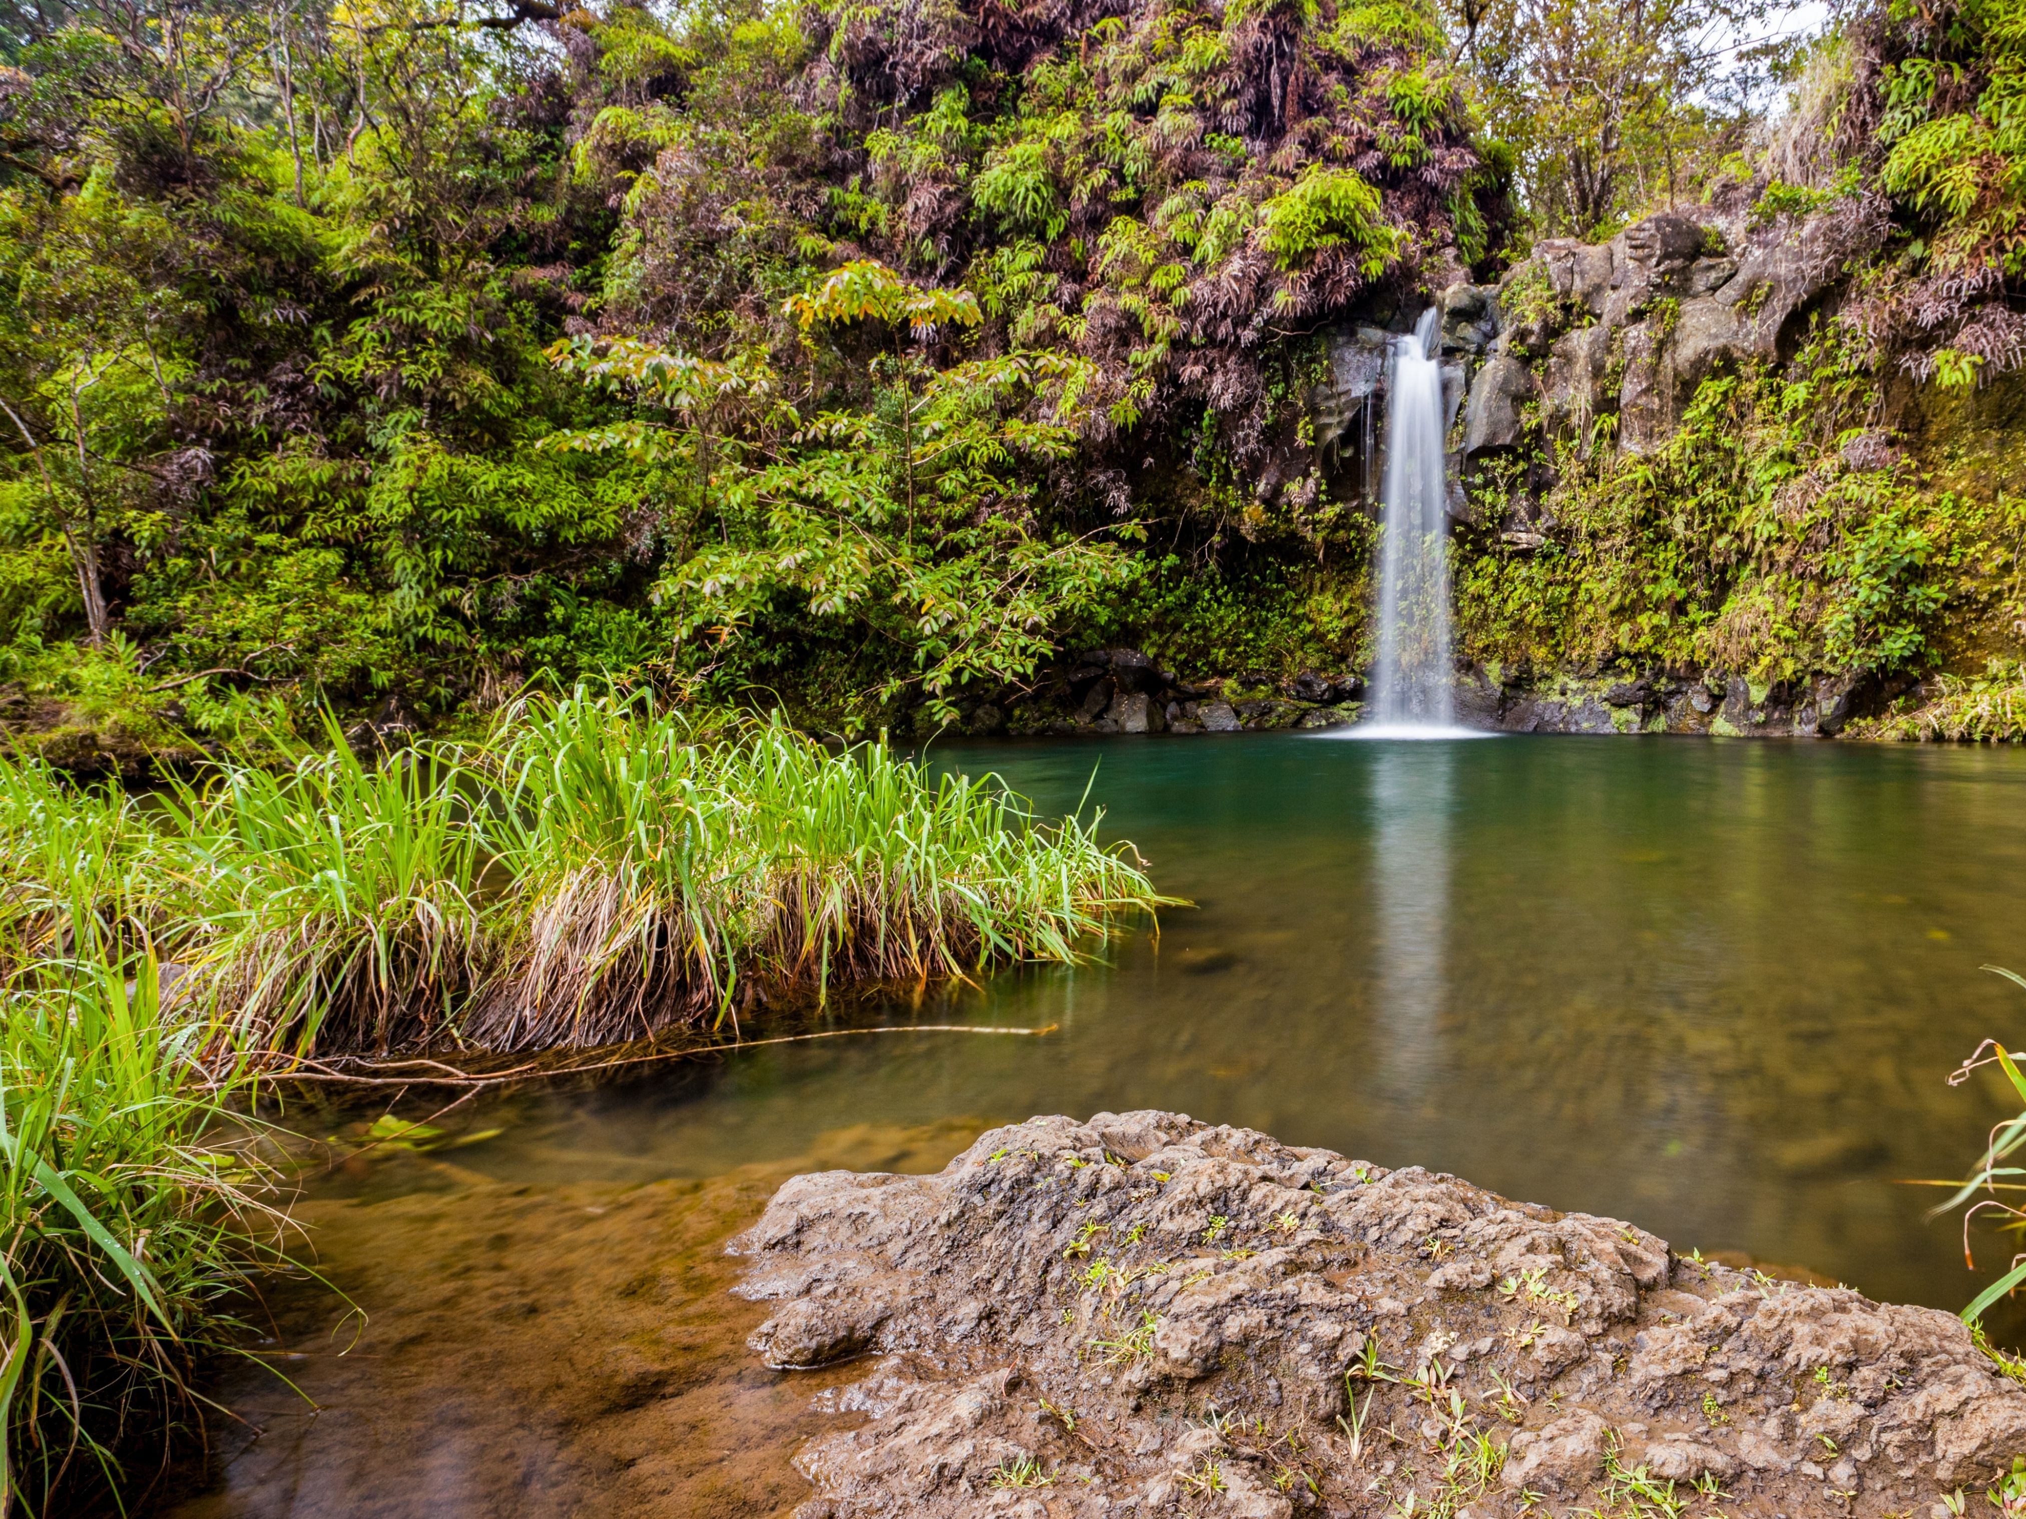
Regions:
<instances>
[{"instance_id":1,"label":"small spreading tree with bright yellow-green leaves overhanging far bank","mask_svg":"<svg viewBox=\"0 0 2026 1519\"><path fill-rule=\"evenodd\" d=\"M924 290L857 261L786 304L804 326L875 320L932 334L977 324L968 292ZM683 533L697 547L671 563L654 595L679 646L725 650L739 630L784 606L800 624L865 628L914 650L867 693L885 705L918 687L954 717L972 681L1033 674L1072 622L1135 573L1116 549L1126 533L1037 533L1031 480L1076 452L1090 367L1051 350L932 369L918 354L881 356L891 387L867 411L802 419L772 403L764 358L717 365L636 340L557 344L557 367L630 389L677 425L634 421L551 437L557 448L624 448L689 472ZM1037 411L1037 405L1045 409ZM853 701L847 723L871 711Z\"/></svg>"}]
</instances>

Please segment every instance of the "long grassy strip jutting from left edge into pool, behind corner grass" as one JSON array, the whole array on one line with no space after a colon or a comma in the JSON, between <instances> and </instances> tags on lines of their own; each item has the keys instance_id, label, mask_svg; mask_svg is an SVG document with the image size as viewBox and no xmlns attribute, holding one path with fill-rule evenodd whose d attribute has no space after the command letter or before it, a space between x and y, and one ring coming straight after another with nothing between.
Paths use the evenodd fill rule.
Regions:
<instances>
[{"instance_id":1,"label":"long grassy strip jutting from left edge into pool, behind corner grass","mask_svg":"<svg viewBox=\"0 0 2026 1519\"><path fill-rule=\"evenodd\" d=\"M269 1069L622 1043L754 994L1074 962L1163 901L1096 818L1041 826L997 778L583 691L470 745L217 764L148 806L0 760L0 954L57 952L69 922L146 942L219 1055Z\"/></svg>"}]
</instances>

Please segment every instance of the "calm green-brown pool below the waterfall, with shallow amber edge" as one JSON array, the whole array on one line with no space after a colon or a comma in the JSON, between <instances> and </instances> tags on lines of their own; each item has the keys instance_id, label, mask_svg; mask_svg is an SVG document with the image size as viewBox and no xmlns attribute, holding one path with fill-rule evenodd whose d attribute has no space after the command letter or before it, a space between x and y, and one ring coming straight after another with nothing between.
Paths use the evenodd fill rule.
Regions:
<instances>
[{"instance_id":1,"label":"calm green-brown pool below the waterfall, with shallow amber edge","mask_svg":"<svg viewBox=\"0 0 2026 1519\"><path fill-rule=\"evenodd\" d=\"M1985 1280L1896 1179L1961 1173L2004 1112L1945 1077L2026 1023L1979 972L2026 968L2022 753L1258 735L936 762L1043 812L1096 768L1108 832L1199 905L1108 966L851 1015L1045 1039L829 1039L472 1102L446 1126L496 1136L312 1183L320 1266L369 1321L276 1294L269 1349L318 1410L229 1375L249 1424L174 1513L784 1511L812 1393L857 1373L766 1373L721 1240L794 1171L936 1169L1035 1112L1179 1108L1880 1298Z\"/></svg>"}]
</instances>

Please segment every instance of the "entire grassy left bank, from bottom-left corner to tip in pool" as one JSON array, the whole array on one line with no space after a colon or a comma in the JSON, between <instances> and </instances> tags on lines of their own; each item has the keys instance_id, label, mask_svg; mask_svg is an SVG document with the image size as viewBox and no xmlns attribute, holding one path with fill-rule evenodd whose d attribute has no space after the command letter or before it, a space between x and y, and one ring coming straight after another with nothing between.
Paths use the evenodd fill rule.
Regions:
<instances>
[{"instance_id":1,"label":"entire grassy left bank, from bottom-left corner to tip in pool","mask_svg":"<svg viewBox=\"0 0 2026 1519\"><path fill-rule=\"evenodd\" d=\"M1096 826L883 747L581 695L486 743L148 796L0 762L0 1509L142 1491L176 1454L290 1268L259 1096L468 1096L547 1051L735 1045L847 984L1074 964L1165 901ZM401 1051L438 1059L373 1065ZM389 1122L373 1142L415 1142Z\"/></svg>"}]
</instances>

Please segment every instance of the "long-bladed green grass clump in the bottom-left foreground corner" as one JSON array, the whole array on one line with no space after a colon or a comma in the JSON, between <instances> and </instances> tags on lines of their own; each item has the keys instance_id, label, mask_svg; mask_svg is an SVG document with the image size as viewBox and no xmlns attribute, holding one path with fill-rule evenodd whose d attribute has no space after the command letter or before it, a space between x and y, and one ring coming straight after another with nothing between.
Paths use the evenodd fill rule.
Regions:
<instances>
[{"instance_id":1,"label":"long-bladed green grass clump in the bottom-left foreground corner","mask_svg":"<svg viewBox=\"0 0 2026 1519\"><path fill-rule=\"evenodd\" d=\"M89 926L0 988L0 1513L132 1485L257 1266L257 1175L215 1148L239 1086Z\"/></svg>"}]
</instances>

